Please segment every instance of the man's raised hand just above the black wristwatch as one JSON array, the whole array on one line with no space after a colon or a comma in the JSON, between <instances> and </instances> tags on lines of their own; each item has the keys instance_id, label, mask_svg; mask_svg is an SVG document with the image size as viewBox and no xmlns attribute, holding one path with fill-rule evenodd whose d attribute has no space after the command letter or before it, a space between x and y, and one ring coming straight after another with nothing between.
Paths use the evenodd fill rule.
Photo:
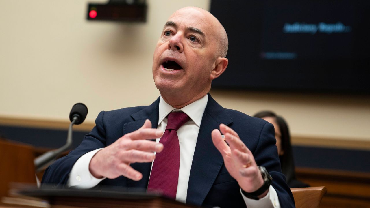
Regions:
<instances>
[{"instance_id":1,"label":"man's raised hand just above the black wristwatch","mask_svg":"<svg viewBox=\"0 0 370 208\"><path fill-rule=\"evenodd\" d=\"M225 135L226 142L222 139L218 129L212 131L212 141L222 154L223 161L229 174L238 181L240 188L245 192L254 192L263 185L263 178L257 167L252 152L240 140L238 134L230 127L221 124L220 130ZM268 190L258 196L264 197Z\"/></svg>"}]
</instances>

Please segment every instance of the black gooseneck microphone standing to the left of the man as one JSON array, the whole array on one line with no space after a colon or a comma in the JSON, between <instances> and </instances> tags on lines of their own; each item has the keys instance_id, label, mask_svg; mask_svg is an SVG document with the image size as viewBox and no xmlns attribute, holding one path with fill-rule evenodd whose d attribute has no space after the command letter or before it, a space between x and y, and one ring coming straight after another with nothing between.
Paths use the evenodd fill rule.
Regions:
<instances>
[{"instance_id":1,"label":"black gooseneck microphone standing to the left of the man","mask_svg":"<svg viewBox=\"0 0 370 208\"><path fill-rule=\"evenodd\" d=\"M35 165L36 172L39 172L48 165L51 161L54 161L55 158L62 152L68 150L72 145L72 126L74 124L79 125L84 122L87 116L87 107L84 103L76 103L73 105L71 112L70 112L70 125L68 127L68 134L67 134L67 142L64 146L60 147L56 150L50 150L46 153L38 156L34 159L33 163Z\"/></svg>"}]
</instances>

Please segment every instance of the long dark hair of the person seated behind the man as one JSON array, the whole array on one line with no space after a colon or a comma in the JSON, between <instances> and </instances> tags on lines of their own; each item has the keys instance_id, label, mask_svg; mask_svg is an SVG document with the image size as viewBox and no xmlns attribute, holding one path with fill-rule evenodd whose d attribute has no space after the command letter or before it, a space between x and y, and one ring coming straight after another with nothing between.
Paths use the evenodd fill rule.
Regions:
<instances>
[{"instance_id":1,"label":"long dark hair of the person seated behind the man","mask_svg":"<svg viewBox=\"0 0 370 208\"><path fill-rule=\"evenodd\" d=\"M286 177L286 182L289 184L290 181L296 179L296 172L294 166L293 150L290 144L290 133L289 128L283 117L276 115L272 111L260 111L254 115L254 117L273 117L281 132L281 150L284 152L282 156L279 156L281 169Z\"/></svg>"}]
</instances>

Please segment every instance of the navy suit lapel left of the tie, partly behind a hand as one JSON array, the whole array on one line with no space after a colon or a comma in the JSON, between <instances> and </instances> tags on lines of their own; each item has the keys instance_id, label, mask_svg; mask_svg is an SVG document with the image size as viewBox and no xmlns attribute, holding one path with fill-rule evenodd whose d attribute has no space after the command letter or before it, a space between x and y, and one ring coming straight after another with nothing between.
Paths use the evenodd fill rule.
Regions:
<instances>
[{"instance_id":1,"label":"navy suit lapel left of the tie, partly behind a hand","mask_svg":"<svg viewBox=\"0 0 370 208\"><path fill-rule=\"evenodd\" d=\"M155 100L150 106L140 110L137 113L131 115L134 121L125 123L123 126L124 134L134 132L138 130L146 119L149 119L152 122L152 128L157 129L158 126L158 117L159 117L159 98ZM134 181L127 179L127 187L142 187L147 188L149 182L149 174L152 163L133 163L131 167L135 170L142 173L143 178L139 181Z\"/></svg>"}]
</instances>

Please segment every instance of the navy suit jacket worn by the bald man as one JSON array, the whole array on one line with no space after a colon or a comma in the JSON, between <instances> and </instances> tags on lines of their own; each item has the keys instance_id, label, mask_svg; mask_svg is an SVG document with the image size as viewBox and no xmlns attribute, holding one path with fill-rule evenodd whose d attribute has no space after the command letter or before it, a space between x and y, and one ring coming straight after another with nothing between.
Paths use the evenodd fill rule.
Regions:
<instances>
[{"instance_id":1,"label":"navy suit jacket worn by the bald man","mask_svg":"<svg viewBox=\"0 0 370 208\"><path fill-rule=\"evenodd\" d=\"M58 184L63 187L78 158L89 151L108 146L124 134L139 129L145 119L149 119L152 127L157 128L158 108L159 98L150 106L100 112L94 129L85 136L80 146L46 169L42 183ZM285 176L281 173L273 126L262 119L222 108L209 94L196 141L186 203L204 207L246 207L239 192L238 182L228 173L221 154L212 143L211 132L213 129L218 129L221 123L228 125L239 134L252 151L256 163L266 167L272 175L272 186L279 196L281 207L295 207L292 192L285 182ZM107 178L99 185L123 186L128 189L146 188L151 163L134 163L131 166L143 174L140 181L121 176L115 179Z\"/></svg>"}]
</instances>

